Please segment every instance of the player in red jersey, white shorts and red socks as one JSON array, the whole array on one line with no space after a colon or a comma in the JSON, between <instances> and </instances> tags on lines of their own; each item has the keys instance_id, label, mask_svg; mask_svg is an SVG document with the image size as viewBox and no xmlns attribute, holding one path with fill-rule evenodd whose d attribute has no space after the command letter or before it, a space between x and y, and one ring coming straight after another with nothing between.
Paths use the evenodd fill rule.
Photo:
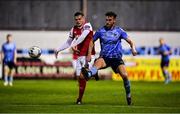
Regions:
<instances>
[{"instance_id":1,"label":"player in red jersey, white shorts and red socks","mask_svg":"<svg viewBox=\"0 0 180 114\"><path fill-rule=\"evenodd\" d=\"M78 77L79 82L79 96L77 98L76 103L82 103L82 97L86 87L86 80L81 74L82 67L85 67L88 64L90 68L95 60L94 54L95 50L93 48L91 61L87 62L86 57L88 54L89 43L93 38L93 30L92 26L89 22L86 22L84 14L81 12L76 12L74 14L75 25L72 27L69 38L67 41L56 50L56 57L58 53L67 48L73 48L73 51L78 53L77 63L76 63L76 76ZM77 40L78 39L78 40ZM80 43L81 42L81 43ZM77 45L74 47L72 44Z\"/></svg>"}]
</instances>

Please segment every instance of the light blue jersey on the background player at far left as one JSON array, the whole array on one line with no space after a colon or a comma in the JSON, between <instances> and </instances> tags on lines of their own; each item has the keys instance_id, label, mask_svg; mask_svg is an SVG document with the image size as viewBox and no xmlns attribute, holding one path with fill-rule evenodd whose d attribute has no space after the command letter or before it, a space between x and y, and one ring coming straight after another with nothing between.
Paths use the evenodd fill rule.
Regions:
<instances>
[{"instance_id":1,"label":"light blue jersey on the background player at far left","mask_svg":"<svg viewBox=\"0 0 180 114\"><path fill-rule=\"evenodd\" d=\"M14 43L4 43L2 45L2 52L4 54L3 62L13 62L16 45Z\"/></svg>"}]
</instances>

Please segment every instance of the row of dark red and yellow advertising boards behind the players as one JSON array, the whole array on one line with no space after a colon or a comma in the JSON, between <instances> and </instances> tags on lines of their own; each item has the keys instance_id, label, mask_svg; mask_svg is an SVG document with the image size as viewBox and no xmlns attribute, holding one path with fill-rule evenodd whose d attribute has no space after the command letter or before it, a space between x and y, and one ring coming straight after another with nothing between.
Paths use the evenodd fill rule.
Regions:
<instances>
[{"instance_id":1,"label":"row of dark red and yellow advertising boards behind the players","mask_svg":"<svg viewBox=\"0 0 180 114\"><path fill-rule=\"evenodd\" d=\"M67 58L67 56L69 58ZM42 59L18 58L15 78L59 78L74 79L74 69L71 56L61 55L61 60L53 64L46 63ZM50 57L48 57L50 58ZM64 59L66 58L66 59ZM163 81L160 69L160 56L124 56L127 72L132 81ZM180 58L172 57L169 71L172 81L180 81ZM118 74L112 72L111 68L100 70L101 79L122 80Z\"/></svg>"}]
</instances>

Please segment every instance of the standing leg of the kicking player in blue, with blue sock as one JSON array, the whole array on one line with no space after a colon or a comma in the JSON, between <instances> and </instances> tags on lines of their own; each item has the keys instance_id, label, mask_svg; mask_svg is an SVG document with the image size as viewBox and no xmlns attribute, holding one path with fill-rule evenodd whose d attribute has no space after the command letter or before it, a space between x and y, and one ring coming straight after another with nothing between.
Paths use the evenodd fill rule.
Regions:
<instances>
[{"instance_id":1,"label":"standing leg of the kicking player in blue, with blue sock","mask_svg":"<svg viewBox=\"0 0 180 114\"><path fill-rule=\"evenodd\" d=\"M124 82L124 88L125 88L125 91L126 91L127 104L131 105L131 87L130 87L130 81L128 79L128 74L127 74L125 66L124 65L119 65L118 72L121 75L121 77L123 79L123 82Z\"/></svg>"}]
</instances>

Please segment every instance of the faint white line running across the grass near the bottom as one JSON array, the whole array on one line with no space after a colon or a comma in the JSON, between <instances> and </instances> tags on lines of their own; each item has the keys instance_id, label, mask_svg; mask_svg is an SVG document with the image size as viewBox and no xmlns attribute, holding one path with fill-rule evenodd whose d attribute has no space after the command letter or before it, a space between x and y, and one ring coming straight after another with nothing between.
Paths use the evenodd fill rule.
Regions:
<instances>
[{"instance_id":1,"label":"faint white line running across the grass near the bottom","mask_svg":"<svg viewBox=\"0 0 180 114\"><path fill-rule=\"evenodd\" d=\"M66 104L35 104L35 105L22 105L22 104L8 104L8 105L4 105L4 106L27 106L27 107L30 107L30 106L60 106L60 105L64 105L64 106L79 106L79 105L66 105ZM136 106L136 105L131 105L131 106L125 106L125 105L92 105L92 104L82 104L82 106L90 106L90 107L119 107L119 108L148 108L148 109L180 109L180 107L161 107L161 106Z\"/></svg>"}]
</instances>

